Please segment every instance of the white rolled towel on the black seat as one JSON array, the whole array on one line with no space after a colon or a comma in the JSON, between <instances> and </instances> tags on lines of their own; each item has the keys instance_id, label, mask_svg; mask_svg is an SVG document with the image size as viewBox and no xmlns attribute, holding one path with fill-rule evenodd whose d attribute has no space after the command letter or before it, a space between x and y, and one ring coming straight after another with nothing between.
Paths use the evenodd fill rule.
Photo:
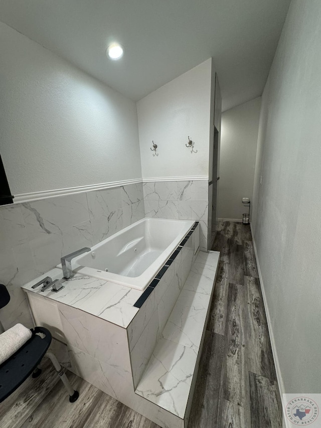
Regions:
<instances>
[{"instance_id":1,"label":"white rolled towel on the black seat","mask_svg":"<svg viewBox=\"0 0 321 428\"><path fill-rule=\"evenodd\" d=\"M22 324L16 324L11 329L0 334L0 364L14 355L31 336L31 331Z\"/></svg>"}]
</instances>

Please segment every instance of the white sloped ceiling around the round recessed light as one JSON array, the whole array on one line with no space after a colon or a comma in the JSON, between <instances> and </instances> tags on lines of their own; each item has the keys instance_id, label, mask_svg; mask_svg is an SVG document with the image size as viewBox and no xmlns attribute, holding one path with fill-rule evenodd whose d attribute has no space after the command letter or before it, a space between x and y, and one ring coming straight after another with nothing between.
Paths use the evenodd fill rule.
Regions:
<instances>
[{"instance_id":1,"label":"white sloped ceiling around the round recessed light","mask_svg":"<svg viewBox=\"0 0 321 428\"><path fill-rule=\"evenodd\" d=\"M223 110L261 95L290 0L1 0L0 20L138 100L214 57ZM106 58L110 42L121 60Z\"/></svg>"}]
</instances>

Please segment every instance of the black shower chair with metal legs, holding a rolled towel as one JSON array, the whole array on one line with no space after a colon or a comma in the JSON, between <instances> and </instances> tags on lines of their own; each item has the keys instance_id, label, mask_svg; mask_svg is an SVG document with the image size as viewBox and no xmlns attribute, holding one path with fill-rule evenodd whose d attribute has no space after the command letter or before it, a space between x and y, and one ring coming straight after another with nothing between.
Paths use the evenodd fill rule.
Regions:
<instances>
[{"instance_id":1,"label":"black shower chair with metal legs, holding a rolled towel","mask_svg":"<svg viewBox=\"0 0 321 428\"><path fill-rule=\"evenodd\" d=\"M7 288L0 284L0 309L6 306L10 301L10 295ZM8 360L0 365L0 402L11 395L30 375L38 377L41 369L38 364L42 358L50 358L60 379L64 383L69 401L73 403L79 397L78 391L75 391L66 376L64 368L61 367L57 358L52 352L47 352L51 343L51 333L44 327L35 327L31 329L32 337Z\"/></svg>"}]
</instances>

